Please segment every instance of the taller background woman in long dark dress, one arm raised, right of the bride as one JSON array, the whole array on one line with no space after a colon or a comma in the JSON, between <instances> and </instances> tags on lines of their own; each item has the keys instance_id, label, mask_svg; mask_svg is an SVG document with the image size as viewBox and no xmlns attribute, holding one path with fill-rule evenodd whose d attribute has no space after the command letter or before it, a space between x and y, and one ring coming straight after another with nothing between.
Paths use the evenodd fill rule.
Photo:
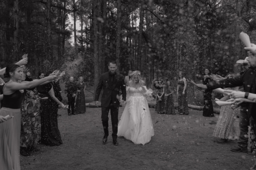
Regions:
<instances>
[{"instance_id":1,"label":"taller background woman in long dark dress, one arm raised, right of the bride","mask_svg":"<svg viewBox=\"0 0 256 170\"><path fill-rule=\"evenodd\" d=\"M180 115L188 115L188 98L187 98L187 80L182 78L182 72L179 72L177 95L178 95L178 112Z\"/></svg>"}]
</instances>

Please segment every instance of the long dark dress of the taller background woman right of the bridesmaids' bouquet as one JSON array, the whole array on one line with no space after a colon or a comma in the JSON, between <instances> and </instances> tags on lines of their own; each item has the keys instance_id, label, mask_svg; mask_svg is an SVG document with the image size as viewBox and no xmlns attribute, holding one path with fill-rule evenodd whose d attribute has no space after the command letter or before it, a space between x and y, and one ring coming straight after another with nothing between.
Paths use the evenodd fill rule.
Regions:
<instances>
[{"instance_id":1,"label":"long dark dress of the taller background woman right of the bridesmaids' bouquet","mask_svg":"<svg viewBox=\"0 0 256 170\"><path fill-rule=\"evenodd\" d=\"M183 115L188 115L188 98L187 98L187 90L185 90L185 94L182 94L184 89L183 80L178 81L179 91L178 91L178 112Z\"/></svg>"}]
</instances>

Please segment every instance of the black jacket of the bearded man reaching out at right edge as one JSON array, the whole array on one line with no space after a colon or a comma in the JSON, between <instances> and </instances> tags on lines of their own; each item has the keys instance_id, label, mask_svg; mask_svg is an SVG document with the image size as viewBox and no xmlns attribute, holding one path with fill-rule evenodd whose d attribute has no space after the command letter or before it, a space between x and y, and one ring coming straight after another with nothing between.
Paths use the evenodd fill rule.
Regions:
<instances>
[{"instance_id":1,"label":"black jacket of the bearded man reaching out at right edge","mask_svg":"<svg viewBox=\"0 0 256 170\"><path fill-rule=\"evenodd\" d=\"M229 78L225 80L220 80L217 83L210 82L206 84L209 90L214 90L216 88L227 88L227 87L237 87L243 86L244 92L255 93L255 81L256 81L256 69L249 68L240 76L236 76L234 78ZM254 120L256 120L256 113L252 113L252 106L254 103L246 103L248 108L249 115L252 114Z\"/></svg>"}]
</instances>

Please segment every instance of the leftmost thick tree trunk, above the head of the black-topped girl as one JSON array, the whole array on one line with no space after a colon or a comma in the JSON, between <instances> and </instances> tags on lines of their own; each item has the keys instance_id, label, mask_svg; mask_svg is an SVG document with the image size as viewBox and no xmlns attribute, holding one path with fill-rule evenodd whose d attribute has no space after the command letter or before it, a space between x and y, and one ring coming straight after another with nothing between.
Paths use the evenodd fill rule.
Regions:
<instances>
[{"instance_id":1,"label":"leftmost thick tree trunk, above the head of the black-topped girl","mask_svg":"<svg viewBox=\"0 0 256 170\"><path fill-rule=\"evenodd\" d=\"M18 31L19 31L19 1L14 0L14 8L13 8L13 18L14 18L14 52L13 52L13 60L17 61L18 58L18 50L19 50L19 42L18 42Z\"/></svg>"}]
</instances>

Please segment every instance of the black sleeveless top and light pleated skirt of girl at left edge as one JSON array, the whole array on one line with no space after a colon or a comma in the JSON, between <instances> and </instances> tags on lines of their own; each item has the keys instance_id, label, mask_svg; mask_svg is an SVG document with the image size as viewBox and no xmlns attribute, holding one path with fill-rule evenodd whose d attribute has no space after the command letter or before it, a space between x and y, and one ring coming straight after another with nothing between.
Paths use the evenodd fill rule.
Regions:
<instances>
[{"instance_id":1,"label":"black sleeveless top and light pleated skirt of girl at left edge","mask_svg":"<svg viewBox=\"0 0 256 170\"><path fill-rule=\"evenodd\" d=\"M16 90L13 94L4 95L0 115L14 117L0 123L1 170L20 170L20 107L24 96L24 90Z\"/></svg>"}]
</instances>

